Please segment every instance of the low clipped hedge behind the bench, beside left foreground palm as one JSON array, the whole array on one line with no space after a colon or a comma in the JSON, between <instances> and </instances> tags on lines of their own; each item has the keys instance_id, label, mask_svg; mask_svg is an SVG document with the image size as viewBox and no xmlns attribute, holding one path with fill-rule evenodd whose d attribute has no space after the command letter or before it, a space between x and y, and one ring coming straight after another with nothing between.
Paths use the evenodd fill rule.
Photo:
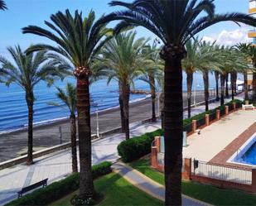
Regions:
<instances>
[{"instance_id":1,"label":"low clipped hedge behind the bench, beside left foreground palm","mask_svg":"<svg viewBox=\"0 0 256 206\"><path fill-rule=\"evenodd\" d=\"M111 165L112 163L109 161L104 161L99 165L93 165L93 178L96 179L99 176L109 174L111 172ZM20 199L15 199L6 204L6 206L51 204L65 195L74 192L76 189L79 189L79 179L79 173L72 174L64 180L49 184L45 188L36 189Z\"/></svg>"}]
</instances>

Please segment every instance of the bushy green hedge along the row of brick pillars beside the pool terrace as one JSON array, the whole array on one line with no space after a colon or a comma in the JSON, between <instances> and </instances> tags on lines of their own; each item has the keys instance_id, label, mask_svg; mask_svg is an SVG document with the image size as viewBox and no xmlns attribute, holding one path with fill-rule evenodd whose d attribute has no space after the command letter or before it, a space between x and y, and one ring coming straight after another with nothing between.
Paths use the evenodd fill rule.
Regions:
<instances>
[{"instance_id":1,"label":"bushy green hedge along the row of brick pillars beside the pool terrace","mask_svg":"<svg viewBox=\"0 0 256 206\"><path fill-rule=\"evenodd\" d=\"M183 120L183 128L186 128L189 124L191 124L192 120L202 120L205 118L205 114L215 113L217 109L225 109L225 106L231 106L233 103L237 103L241 105L243 102L234 99L234 101L230 101L229 103L225 103L225 105L220 106L218 108L206 111L204 113L197 114L191 118L186 118ZM118 155L121 156L124 162L130 162L133 160L137 160L142 156L147 155L151 152L151 144L154 140L154 137L162 136L162 129L158 129L155 132L148 132L143 134L140 137L134 137L132 139L128 139L122 141L118 145Z\"/></svg>"}]
</instances>

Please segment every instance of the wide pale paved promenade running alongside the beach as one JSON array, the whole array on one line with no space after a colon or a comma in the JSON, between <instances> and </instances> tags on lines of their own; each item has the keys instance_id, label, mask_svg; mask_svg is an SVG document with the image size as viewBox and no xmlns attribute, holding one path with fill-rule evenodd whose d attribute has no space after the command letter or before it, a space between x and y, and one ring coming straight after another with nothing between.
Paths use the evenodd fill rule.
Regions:
<instances>
[{"instance_id":1,"label":"wide pale paved promenade running alongside the beach","mask_svg":"<svg viewBox=\"0 0 256 206\"><path fill-rule=\"evenodd\" d=\"M219 106L220 103L211 103L210 108ZM192 109L192 114L202 113L205 106ZM185 112L186 113L186 112ZM137 137L145 132L152 132L161 127L161 122L130 125L131 137ZM104 160L115 161L118 159L117 146L125 139L123 133L111 135L104 139L94 141L92 144L93 164L98 164ZM17 191L29 184L40 180L49 179L49 183L60 180L71 172L70 150L58 151L48 156L35 159L35 164L16 165L11 168L0 170L0 205L17 198Z\"/></svg>"}]
</instances>

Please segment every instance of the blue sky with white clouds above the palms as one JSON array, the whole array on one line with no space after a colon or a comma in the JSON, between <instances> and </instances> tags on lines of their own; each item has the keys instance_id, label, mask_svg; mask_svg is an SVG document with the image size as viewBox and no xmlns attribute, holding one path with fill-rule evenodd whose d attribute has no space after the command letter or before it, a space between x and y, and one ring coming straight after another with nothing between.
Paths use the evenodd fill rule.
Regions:
<instances>
[{"instance_id":1,"label":"blue sky with white clouds above the palms","mask_svg":"<svg viewBox=\"0 0 256 206\"><path fill-rule=\"evenodd\" d=\"M93 9L96 17L120 9L109 7L110 0L5 0L8 10L0 11L0 55L7 55L7 46L20 44L23 49L36 43L51 43L41 36L22 34L22 27L28 25L44 26L51 14L64 12L69 8L87 15ZM131 2L126 0L126 2ZM249 0L215 0L216 13L249 11ZM112 24L113 25L113 24ZM111 26L111 25L110 25ZM206 41L217 41L219 44L233 45L239 41L250 41L247 37L248 26L237 26L232 22L220 23L200 33ZM151 37L150 31L138 28L138 36Z\"/></svg>"}]
</instances>

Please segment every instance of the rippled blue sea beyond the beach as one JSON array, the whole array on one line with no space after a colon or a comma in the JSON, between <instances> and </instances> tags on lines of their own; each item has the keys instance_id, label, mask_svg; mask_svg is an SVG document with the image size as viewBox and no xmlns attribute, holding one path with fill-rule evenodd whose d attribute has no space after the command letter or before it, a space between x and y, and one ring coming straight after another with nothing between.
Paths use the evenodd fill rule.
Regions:
<instances>
[{"instance_id":1,"label":"rippled blue sea beyond the beach","mask_svg":"<svg viewBox=\"0 0 256 206\"><path fill-rule=\"evenodd\" d=\"M36 101L34 104L34 124L49 124L69 117L69 111L65 105L56 98L56 86L65 89L65 84L75 84L74 78L67 78L64 81L57 81L51 88L46 83L37 84L34 89ZM203 89L203 79L200 73L194 74L194 87ZM194 88L193 87L193 88ZM147 83L136 80L135 89L149 90ZM210 74L210 89L215 89L215 78ZM183 74L183 90L186 91L186 74ZM107 85L106 79L101 79L90 86L90 98L93 102L91 113L96 109L105 110L118 107L118 83L110 82ZM150 98L146 94L131 94L130 102L137 102ZM59 103L60 106L51 106L49 103ZM7 87L0 84L0 134L12 132L27 127L27 104L25 92L17 85L11 84Z\"/></svg>"}]
</instances>

